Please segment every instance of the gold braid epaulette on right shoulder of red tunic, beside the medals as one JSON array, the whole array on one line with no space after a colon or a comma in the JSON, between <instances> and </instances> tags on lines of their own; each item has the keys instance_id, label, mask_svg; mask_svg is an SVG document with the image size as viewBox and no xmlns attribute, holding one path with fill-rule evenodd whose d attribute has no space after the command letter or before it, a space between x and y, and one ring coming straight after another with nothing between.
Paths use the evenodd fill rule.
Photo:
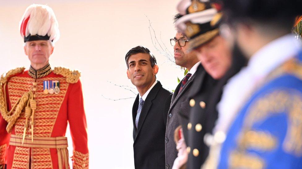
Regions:
<instances>
[{"instance_id":1,"label":"gold braid epaulette on right shoulder of red tunic, beside the medals","mask_svg":"<svg viewBox=\"0 0 302 169\"><path fill-rule=\"evenodd\" d=\"M78 70L70 70L64 67L55 67L54 74L62 75L66 78L68 83L76 83L78 82L81 74Z\"/></svg>"}]
</instances>

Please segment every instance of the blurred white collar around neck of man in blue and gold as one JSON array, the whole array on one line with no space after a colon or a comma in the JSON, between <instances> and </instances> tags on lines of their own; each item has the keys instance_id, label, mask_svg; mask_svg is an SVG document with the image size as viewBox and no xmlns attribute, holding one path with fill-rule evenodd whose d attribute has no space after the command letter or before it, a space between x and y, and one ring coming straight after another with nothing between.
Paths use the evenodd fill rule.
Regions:
<instances>
[{"instance_id":1,"label":"blurred white collar around neck of man in blue and gold","mask_svg":"<svg viewBox=\"0 0 302 169\"><path fill-rule=\"evenodd\" d=\"M286 60L294 57L301 43L293 34L284 35L258 50L248 62L248 69L255 78L267 76Z\"/></svg>"}]
</instances>

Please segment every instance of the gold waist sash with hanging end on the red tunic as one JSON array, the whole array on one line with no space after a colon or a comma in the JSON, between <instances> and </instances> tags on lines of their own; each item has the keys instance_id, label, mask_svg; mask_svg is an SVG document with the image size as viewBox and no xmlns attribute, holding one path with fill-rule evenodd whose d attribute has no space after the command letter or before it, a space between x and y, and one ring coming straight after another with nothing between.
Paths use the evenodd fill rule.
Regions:
<instances>
[{"instance_id":1,"label":"gold waist sash with hanging end on the red tunic","mask_svg":"<svg viewBox=\"0 0 302 169\"><path fill-rule=\"evenodd\" d=\"M22 144L22 135L11 135L11 146L31 148L56 148L58 152L59 169L68 169L67 137L33 137L25 138Z\"/></svg>"}]
</instances>

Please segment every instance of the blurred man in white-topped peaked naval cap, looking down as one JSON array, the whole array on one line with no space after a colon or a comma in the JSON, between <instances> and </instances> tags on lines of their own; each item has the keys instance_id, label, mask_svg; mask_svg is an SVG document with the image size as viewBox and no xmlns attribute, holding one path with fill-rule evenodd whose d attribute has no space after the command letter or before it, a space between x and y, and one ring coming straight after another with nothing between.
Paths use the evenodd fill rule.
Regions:
<instances>
[{"instance_id":1,"label":"blurred man in white-topped peaked naval cap, looking down","mask_svg":"<svg viewBox=\"0 0 302 169\"><path fill-rule=\"evenodd\" d=\"M232 65L232 51L219 34L219 5L201 1L181 1L178 5L183 18L176 22L177 28L190 38L189 50L194 50L201 65L198 67L194 91L190 93L187 168L200 168L209 154L212 130L217 119L216 105L226 81L245 65L245 59L236 53L237 64ZM203 73L204 70L207 72ZM197 80L204 78L204 80ZM215 79L215 80L213 80ZM185 130L183 129L183 130Z\"/></svg>"}]
</instances>

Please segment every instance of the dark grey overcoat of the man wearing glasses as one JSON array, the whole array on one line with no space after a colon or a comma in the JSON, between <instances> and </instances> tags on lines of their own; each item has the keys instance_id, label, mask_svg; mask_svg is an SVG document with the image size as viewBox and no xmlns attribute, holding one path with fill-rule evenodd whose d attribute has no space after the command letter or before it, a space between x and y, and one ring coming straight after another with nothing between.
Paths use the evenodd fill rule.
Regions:
<instances>
[{"instance_id":1,"label":"dark grey overcoat of the man wearing glasses","mask_svg":"<svg viewBox=\"0 0 302 169\"><path fill-rule=\"evenodd\" d=\"M192 89L192 82L196 73L194 73L183 86L183 89L179 92L182 81L176 87L172 100L171 107L168 112L167 128L166 128L166 139L165 139L165 150L166 150L166 169L172 168L174 160L177 157L178 151L176 150L176 143L174 141L174 131L180 125L179 113L188 114L190 110L188 95ZM178 93L179 92L179 93Z\"/></svg>"}]
</instances>

